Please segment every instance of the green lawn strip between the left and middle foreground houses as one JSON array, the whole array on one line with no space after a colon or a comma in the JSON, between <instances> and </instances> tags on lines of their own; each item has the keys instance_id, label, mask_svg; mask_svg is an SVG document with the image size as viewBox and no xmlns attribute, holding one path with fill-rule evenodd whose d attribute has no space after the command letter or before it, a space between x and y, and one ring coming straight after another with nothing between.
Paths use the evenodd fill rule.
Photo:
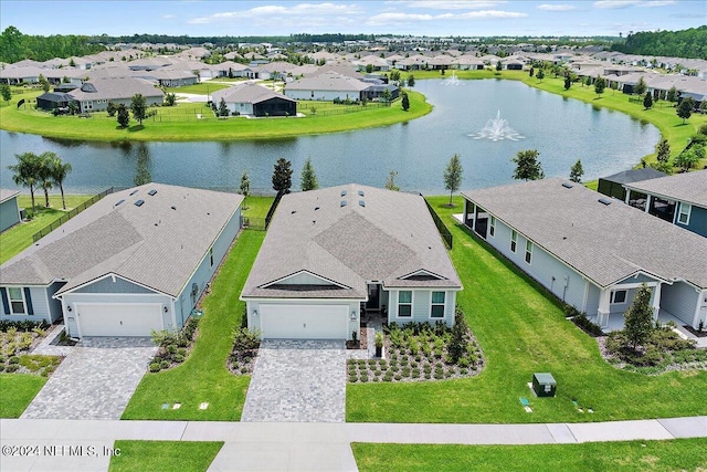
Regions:
<instances>
[{"instance_id":1,"label":"green lawn strip between the left and middle foreground houses","mask_svg":"<svg viewBox=\"0 0 707 472\"><path fill-rule=\"evenodd\" d=\"M145 375L123 419L240 420L250 376L232 375L226 358L245 305L239 295L264 237L263 231L239 235L204 300L199 337L189 358L171 370ZM163 403L176 402L180 409L162 409ZM209 408L200 410L201 402Z\"/></svg>"}]
</instances>

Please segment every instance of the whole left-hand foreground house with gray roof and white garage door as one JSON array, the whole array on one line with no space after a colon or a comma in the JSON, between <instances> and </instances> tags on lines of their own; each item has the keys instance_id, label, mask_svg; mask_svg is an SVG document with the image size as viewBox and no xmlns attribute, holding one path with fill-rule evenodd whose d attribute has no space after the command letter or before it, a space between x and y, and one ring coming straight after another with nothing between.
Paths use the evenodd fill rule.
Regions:
<instances>
[{"instance_id":1,"label":"whole left-hand foreground house with gray roof and white garage door","mask_svg":"<svg viewBox=\"0 0 707 472\"><path fill-rule=\"evenodd\" d=\"M110 193L0 265L0 319L72 337L183 326L241 228L239 195L148 183Z\"/></svg>"}]
</instances>

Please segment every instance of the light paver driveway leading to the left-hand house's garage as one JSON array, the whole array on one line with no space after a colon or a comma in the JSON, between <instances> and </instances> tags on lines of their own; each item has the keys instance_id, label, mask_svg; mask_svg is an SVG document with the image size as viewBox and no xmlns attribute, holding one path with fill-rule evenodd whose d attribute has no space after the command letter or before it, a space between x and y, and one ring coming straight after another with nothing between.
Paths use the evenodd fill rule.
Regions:
<instances>
[{"instance_id":1,"label":"light paver driveway leading to the left-hand house's garage","mask_svg":"<svg viewBox=\"0 0 707 472\"><path fill-rule=\"evenodd\" d=\"M21 418L119 419L156 352L150 338L83 338Z\"/></svg>"}]
</instances>

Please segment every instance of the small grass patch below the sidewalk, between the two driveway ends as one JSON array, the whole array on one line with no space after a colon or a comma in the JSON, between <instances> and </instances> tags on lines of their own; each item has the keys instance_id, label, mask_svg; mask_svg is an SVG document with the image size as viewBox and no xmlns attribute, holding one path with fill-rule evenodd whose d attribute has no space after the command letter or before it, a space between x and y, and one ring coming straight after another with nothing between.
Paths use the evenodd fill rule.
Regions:
<instances>
[{"instance_id":1,"label":"small grass patch below the sidewalk, between the two driveway ends","mask_svg":"<svg viewBox=\"0 0 707 472\"><path fill-rule=\"evenodd\" d=\"M223 442L116 441L109 472L204 472Z\"/></svg>"}]
</instances>

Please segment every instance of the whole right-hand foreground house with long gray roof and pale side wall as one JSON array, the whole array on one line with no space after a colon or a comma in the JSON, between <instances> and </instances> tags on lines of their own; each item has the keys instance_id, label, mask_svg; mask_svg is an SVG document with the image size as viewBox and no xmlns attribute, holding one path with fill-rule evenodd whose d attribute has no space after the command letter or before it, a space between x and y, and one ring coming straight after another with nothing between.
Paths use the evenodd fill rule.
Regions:
<instances>
[{"instance_id":1,"label":"whole right-hand foreground house with long gray roof and pale side wall","mask_svg":"<svg viewBox=\"0 0 707 472\"><path fill-rule=\"evenodd\" d=\"M477 235L602 328L643 283L658 319L707 323L707 239L559 178L462 195Z\"/></svg>"}]
</instances>

